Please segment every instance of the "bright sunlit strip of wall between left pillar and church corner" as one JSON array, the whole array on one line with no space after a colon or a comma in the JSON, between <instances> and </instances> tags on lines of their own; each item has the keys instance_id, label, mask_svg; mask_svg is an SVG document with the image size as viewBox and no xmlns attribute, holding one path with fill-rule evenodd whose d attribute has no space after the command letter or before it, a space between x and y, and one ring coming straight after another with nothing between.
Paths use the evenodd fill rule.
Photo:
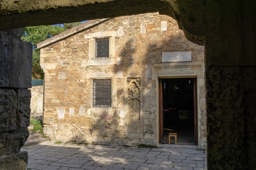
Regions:
<instances>
[{"instance_id":1,"label":"bright sunlit strip of wall between left pillar and church corner","mask_svg":"<svg viewBox=\"0 0 256 170\"><path fill-rule=\"evenodd\" d=\"M32 86L31 114L43 114L43 86Z\"/></svg>"}]
</instances>

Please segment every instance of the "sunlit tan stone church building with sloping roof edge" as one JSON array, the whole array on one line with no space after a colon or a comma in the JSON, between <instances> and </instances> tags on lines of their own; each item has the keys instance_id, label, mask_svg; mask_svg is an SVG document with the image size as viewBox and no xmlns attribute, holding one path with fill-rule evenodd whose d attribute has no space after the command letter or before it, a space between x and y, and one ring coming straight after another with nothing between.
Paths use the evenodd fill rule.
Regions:
<instances>
[{"instance_id":1,"label":"sunlit tan stone church building with sloping roof edge","mask_svg":"<svg viewBox=\"0 0 256 170\"><path fill-rule=\"evenodd\" d=\"M38 48L51 140L159 145L177 132L178 144L206 148L204 47L173 18L87 21Z\"/></svg>"}]
</instances>

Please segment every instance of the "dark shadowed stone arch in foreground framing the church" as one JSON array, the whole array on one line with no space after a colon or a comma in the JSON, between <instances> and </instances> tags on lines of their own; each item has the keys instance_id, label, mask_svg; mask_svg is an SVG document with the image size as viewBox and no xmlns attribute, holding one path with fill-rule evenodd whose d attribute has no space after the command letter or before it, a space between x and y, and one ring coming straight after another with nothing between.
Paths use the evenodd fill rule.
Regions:
<instances>
[{"instance_id":1,"label":"dark shadowed stone arch in foreground framing the church","mask_svg":"<svg viewBox=\"0 0 256 170\"><path fill-rule=\"evenodd\" d=\"M21 42L22 29L11 29L159 11L175 18L188 40L206 47L208 169L253 169L255 6L238 0L1 1L1 168L24 169L27 159L19 151L28 137L32 48Z\"/></svg>"}]
</instances>

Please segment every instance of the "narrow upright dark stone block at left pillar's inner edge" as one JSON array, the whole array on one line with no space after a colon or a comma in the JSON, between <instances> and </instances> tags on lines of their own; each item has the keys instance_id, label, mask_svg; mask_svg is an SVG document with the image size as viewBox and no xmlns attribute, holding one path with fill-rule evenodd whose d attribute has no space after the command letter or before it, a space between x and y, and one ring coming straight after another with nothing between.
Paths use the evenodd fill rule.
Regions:
<instances>
[{"instance_id":1,"label":"narrow upright dark stone block at left pillar's inner edge","mask_svg":"<svg viewBox=\"0 0 256 170\"><path fill-rule=\"evenodd\" d=\"M31 91L27 89L18 89L18 111L17 111L17 127L27 128L30 123Z\"/></svg>"}]
</instances>

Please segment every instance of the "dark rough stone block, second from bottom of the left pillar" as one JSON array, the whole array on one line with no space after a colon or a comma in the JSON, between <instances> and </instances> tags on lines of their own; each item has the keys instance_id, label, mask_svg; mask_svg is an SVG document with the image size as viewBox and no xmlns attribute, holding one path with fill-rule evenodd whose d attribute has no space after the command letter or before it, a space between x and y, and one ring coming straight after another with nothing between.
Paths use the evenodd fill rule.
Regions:
<instances>
[{"instance_id":1,"label":"dark rough stone block, second from bottom of the left pillar","mask_svg":"<svg viewBox=\"0 0 256 170\"><path fill-rule=\"evenodd\" d=\"M0 133L0 155L20 152L28 135L27 128Z\"/></svg>"}]
</instances>

